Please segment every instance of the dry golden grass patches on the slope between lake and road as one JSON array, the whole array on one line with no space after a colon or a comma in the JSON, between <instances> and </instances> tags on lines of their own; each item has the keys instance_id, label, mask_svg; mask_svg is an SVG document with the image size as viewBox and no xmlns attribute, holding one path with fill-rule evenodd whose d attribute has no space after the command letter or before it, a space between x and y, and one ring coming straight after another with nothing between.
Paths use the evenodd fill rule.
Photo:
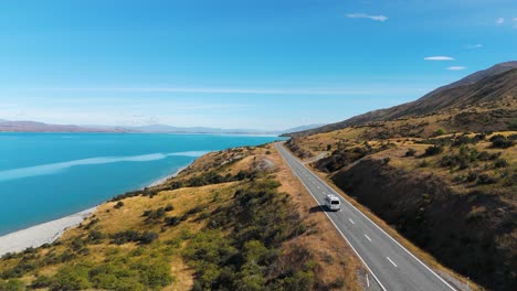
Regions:
<instances>
[{"instance_id":1,"label":"dry golden grass patches on the slope between lake and road","mask_svg":"<svg viewBox=\"0 0 517 291\"><path fill-rule=\"evenodd\" d=\"M238 159L234 159L235 157ZM232 162L228 162L229 160L232 160ZM310 226L310 230L307 234L286 241L281 248L282 251L288 254L291 250L303 246L310 251L318 263L315 270L318 282L325 284L331 283L336 280L336 273L339 273L346 281L344 290L360 290L357 272L361 269L361 266L357 262L354 252L323 213L309 213L310 208L315 206L315 202L299 181L292 174L272 144L263 148L242 148L210 153L197 160L187 171L180 174L180 179L187 180L213 169L217 169L221 175L226 173L236 174L240 171L252 170L264 164L272 168L268 170L275 170L276 180L282 182L279 191L286 192L293 197L304 224ZM66 251L74 239L77 237L85 238L88 235L89 230L86 229L86 226L89 224L93 225L91 229L98 230L107 236L124 230L155 231L159 234L159 238L152 245L146 247L146 254L150 256L154 256L152 254L160 254L168 249L167 241L177 240L186 231L191 234L201 231L205 227L208 219L189 218L176 227L163 228L161 224L146 224L145 217L143 217L145 211L173 205L173 211L167 213L167 216L181 216L190 209L202 205L204 212L210 213L218 206L229 203L233 198L235 188L240 183L244 183L230 182L201 187L167 190L170 181L154 187L154 190L159 191L152 197L134 196L124 198L124 206L118 209L115 208L116 202L104 203L80 227L66 230L59 239L60 244L51 248L40 248L38 249L38 254L44 257L50 251L56 254ZM326 235L323 236L321 234ZM181 249L186 244L188 244L188 240L183 241L177 250L163 255L168 256L167 260L170 261L170 273L175 278L173 283L165 290L189 290L193 285L193 269L186 265L181 256ZM120 246L113 245L109 242L109 239L105 239L98 245L88 245L87 247L89 249L87 258L80 256L64 263L44 266L39 268L36 272L39 274L53 276L63 266L83 262L85 259L89 263L102 265L112 251L129 256L131 251L141 248L141 246L133 242ZM0 271L14 267L18 261L18 259L0 260ZM30 272L21 278L27 284L30 284L34 279L34 272Z\"/></svg>"}]
</instances>

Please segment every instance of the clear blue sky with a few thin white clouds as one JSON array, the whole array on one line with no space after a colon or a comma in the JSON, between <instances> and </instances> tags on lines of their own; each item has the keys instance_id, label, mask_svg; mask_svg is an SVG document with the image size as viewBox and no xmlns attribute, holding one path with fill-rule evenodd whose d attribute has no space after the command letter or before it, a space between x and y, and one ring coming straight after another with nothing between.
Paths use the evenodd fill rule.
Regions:
<instances>
[{"instance_id":1,"label":"clear blue sky with a few thin white clouds","mask_svg":"<svg viewBox=\"0 0 517 291\"><path fill-rule=\"evenodd\" d=\"M1 1L0 119L282 129L511 60L515 0Z\"/></svg>"}]
</instances>

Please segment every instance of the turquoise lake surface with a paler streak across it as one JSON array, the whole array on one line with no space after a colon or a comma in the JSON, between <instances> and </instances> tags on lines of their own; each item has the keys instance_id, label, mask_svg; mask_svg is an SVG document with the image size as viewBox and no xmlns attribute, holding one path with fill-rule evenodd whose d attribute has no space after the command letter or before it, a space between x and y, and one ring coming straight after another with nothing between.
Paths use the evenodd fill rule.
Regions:
<instances>
[{"instance_id":1,"label":"turquoise lake surface with a paler streak across it","mask_svg":"<svg viewBox=\"0 0 517 291\"><path fill-rule=\"evenodd\" d=\"M277 137L0 133L0 236L143 188L198 157Z\"/></svg>"}]
</instances>

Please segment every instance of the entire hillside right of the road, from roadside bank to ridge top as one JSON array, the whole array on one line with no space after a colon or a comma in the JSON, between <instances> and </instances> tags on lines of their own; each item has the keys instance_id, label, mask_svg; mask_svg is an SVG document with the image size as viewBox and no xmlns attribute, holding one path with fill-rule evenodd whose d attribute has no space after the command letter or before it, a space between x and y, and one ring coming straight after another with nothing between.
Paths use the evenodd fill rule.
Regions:
<instances>
[{"instance_id":1,"label":"entire hillside right of the road, from roadside bank to ridge top","mask_svg":"<svg viewBox=\"0 0 517 291\"><path fill-rule=\"evenodd\" d=\"M421 115L287 146L444 266L516 290L516 87L517 69L507 71L413 105Z\"/></svg>"}]
</instances>

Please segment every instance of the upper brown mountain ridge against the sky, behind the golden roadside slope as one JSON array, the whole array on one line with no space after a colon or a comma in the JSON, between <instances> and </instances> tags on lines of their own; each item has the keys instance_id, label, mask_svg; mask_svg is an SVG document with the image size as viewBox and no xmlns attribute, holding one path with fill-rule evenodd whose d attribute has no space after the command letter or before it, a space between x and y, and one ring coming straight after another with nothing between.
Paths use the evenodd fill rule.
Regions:
<instances>
[{"instance_id":1,"label":"upper brown mountain ridge against the sky, behind the golden roadside slope","mask_svg":"<svg viewBox=\"0 0 517 291\"><path fill-rule=\"evenodd\" d=\"M415 101L394 106L388 109L370 111L341 122L327 125L312 130L294 132L287 136L309 136L344 129L350 126L361 126L373 121L410 118L443 110L465 108L486 103L496 103L507 98L508 96L515 98L516 87L517 62L507 62L498 64L489 69L477 72L456 83L433 90Z\"/></svg>"}]
</instances>

